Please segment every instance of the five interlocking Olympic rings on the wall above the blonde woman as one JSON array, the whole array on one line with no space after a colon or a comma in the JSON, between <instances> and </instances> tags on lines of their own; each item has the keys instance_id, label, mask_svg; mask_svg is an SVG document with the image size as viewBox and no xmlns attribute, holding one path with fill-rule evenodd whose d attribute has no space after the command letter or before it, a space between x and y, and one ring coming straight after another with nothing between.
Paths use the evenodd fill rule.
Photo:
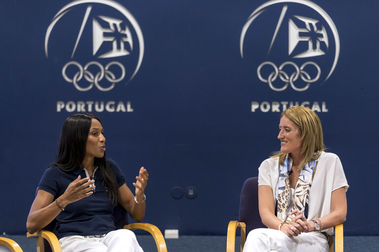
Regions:
<instances>
[{"instance_id":1,"label":"five interlocking Olympic rings on the wall above the blonde woman","mask_svg":"<svg viewBox=\"0 0 379 252\"><path fill-rule=\"evenodd\" d=\"M274 71L272 71L267 79L264 79L261 75L261 68L265 65L271 65L273 68L274 68ZM291 75L288 75L285 71L283 71L283 67L286 66L286 65L292 65L293 67L295 67L295 71L291 74ZM314 67L316 67L317 69L317 75L316 77L314 77L313 79L311 79L309 73L307 73L304 69L305 66L307 65L313 65ZM288 87L288 84L291 85L291 87L296 90L296 91L305 91L309 88L310 86L310 83L313 83L313 82L316 82L319 78L320 78L320 75L321 75L321 69L320 69L320 66L314 62L305 62L302 64L302 66L299 68L299 66L293 62L290 62L290 61L287 61L285 63L282 63L279 68L272 62L264 62L264 63L261 63L258 68L257 68L257 74L258 74L258 78L265 82L265 83L268 83L268 85L270 86L270 88L274 91L283 91L285 90L287 87ZM276 80L276 78L279 76L279 78L285 83L285 85L281 88L275 88L273 85L272 85L272 82L274 82ZM299 79L299 76L300 78L306 83L305 87L303 88L298 88L295 86L294 82L297 81Z\"/></svg>"}]
</instances>

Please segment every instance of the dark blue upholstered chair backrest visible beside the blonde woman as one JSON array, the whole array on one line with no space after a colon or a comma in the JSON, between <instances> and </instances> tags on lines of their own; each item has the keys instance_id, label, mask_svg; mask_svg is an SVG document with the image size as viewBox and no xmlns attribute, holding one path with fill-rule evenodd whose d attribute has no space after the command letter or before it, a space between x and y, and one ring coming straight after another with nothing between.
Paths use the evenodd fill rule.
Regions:
<instances>
[{"instance_id":1,"label":"dark blue upholstered chair backrest visible beside the blonde woman","mask_svg":"<svg viewBox=\"0 0 379 252\"><path fill-rule=\"evenodd\" d=\"M259 215L258 177L249 178L243 183L239 201L238 221L245 222L246 236L255 228L266 227Z\"/></svg>"}]
</instances>

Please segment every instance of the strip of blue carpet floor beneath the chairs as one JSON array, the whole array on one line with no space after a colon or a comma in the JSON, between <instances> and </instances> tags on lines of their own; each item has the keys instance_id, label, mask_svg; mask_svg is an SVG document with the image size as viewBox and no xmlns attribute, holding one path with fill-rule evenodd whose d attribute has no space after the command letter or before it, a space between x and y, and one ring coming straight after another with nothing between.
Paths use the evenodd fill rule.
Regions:
<instances>
[{"instance_id":1,"label":"strip of blue carpet floor beneath the chairs","mask_svg":"<svg viewBox=\"0 0 379 252\"><path fill-rule=\"evenodd\" d=\"M2 235L16 241L23 252L36 252L36 241L24 235ZM156 252L152 236L137 235L144 252ZM379 252L379 236L344 236L344 252ZM168 252L226 252L226 236L180 236L179 239L166 239ZM0 252L7 251L0 246ZM236 237L236 250L239 252L239 237Z\"/></svg>"}]
</instances>

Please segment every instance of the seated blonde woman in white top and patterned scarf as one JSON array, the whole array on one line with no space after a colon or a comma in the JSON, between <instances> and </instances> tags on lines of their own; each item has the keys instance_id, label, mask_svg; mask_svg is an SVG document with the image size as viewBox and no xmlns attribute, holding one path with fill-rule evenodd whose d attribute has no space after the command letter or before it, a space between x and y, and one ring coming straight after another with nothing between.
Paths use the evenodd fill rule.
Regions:
<instances>
[{"instance_id":1,"label":"seated blonde woman in white top and patterned scarf","mask_svg":"<svg viewBox=\"0 0 379 252\"><path fill-rule=\"evenodd\" d=\"M280 152L259 167L262 223L243 252L328 252L328 235L346 219L348 189L340 158L326 153L318 116L291 107L279 123Z\"/></svg>"}]
</instances>

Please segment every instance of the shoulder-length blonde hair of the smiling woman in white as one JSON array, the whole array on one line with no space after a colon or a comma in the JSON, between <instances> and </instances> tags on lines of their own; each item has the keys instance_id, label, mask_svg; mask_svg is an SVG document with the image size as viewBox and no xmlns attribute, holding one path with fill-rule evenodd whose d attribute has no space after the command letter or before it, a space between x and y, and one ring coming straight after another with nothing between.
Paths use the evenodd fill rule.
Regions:
<instances>
[{"instance_id":1,"label":"shoulder-length blonde hair of the smiling woman in white","mask_svg":"<svg viewBox=\"0 0 379 252\"><path fill-rule=\"evenodd\" d=\"M316 113L306 107L290 107L282 112L280 118L283 116L286 116L299 128L303 158L298 169L301 170L307 162L316 160L320 157L321 151L325 151L321 122ZM279 157L279 163L283 164L287 154L279 151L273 153L270 158L276 157Z\"/></svg>"}]
</instances>

